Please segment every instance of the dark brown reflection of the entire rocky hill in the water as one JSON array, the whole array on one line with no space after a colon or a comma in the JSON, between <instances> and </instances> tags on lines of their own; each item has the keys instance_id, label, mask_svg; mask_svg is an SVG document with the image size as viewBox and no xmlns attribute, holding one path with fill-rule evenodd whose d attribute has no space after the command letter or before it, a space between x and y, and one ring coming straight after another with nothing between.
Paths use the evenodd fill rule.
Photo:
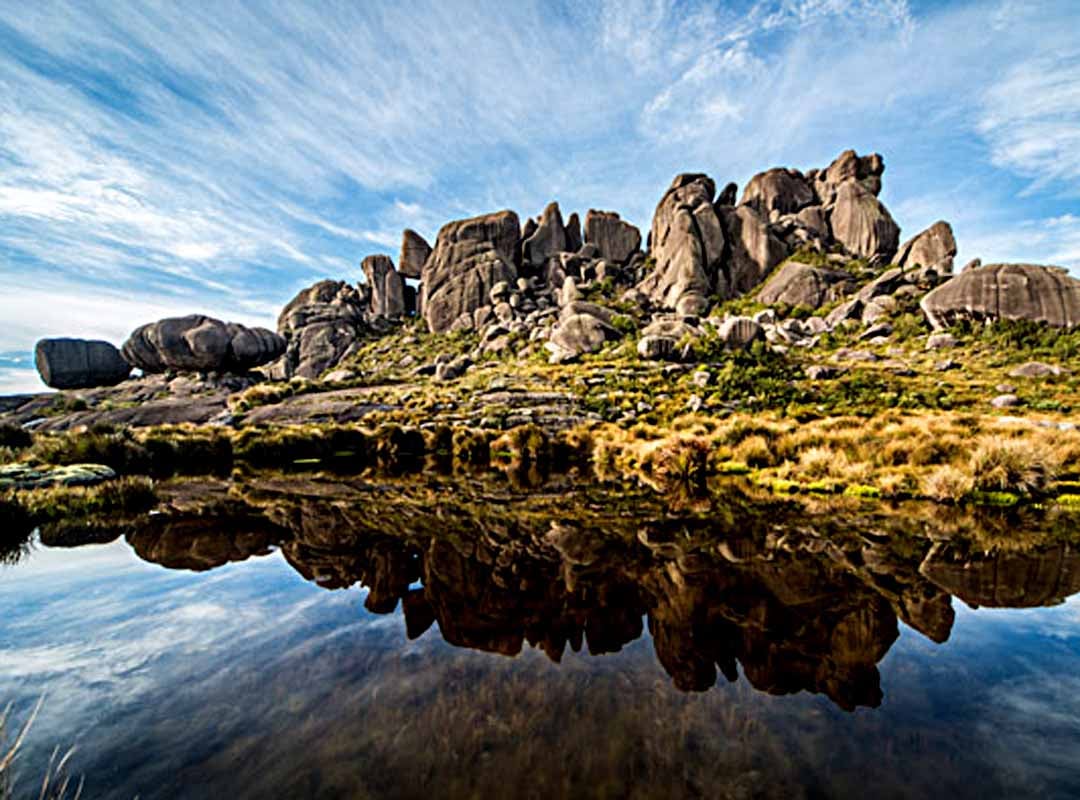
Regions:
<instances>
[{"instance_id":1,"label":"dark brown reflection of the entire rocky hill in the water","mask_svg":"<svg viewBox=\"0 0 1080 800\"><path fill-rule=\"evenodd\" d=\"M949 638L953 597L1030 608L1080 592L1068 517L943 517L859 507L808 513L738 497L672 514L651 496L559 487L511 498L483 484L265 480L187 489L168 513L109 528L41 531L51 546L123 537L144 560L205 571L280 548L326 589L363 586L376 614L402 608L410 639L433 625L456 647L618 652L647 627L683 691L741 673L774 695L845 710L882 702L878 664L903 621ZM842 511L842 513L841 513ZM1011 550L987 548L1005 525ZM1000 531L995 531L1000 537Z\"/></svg>"}]
</instances>

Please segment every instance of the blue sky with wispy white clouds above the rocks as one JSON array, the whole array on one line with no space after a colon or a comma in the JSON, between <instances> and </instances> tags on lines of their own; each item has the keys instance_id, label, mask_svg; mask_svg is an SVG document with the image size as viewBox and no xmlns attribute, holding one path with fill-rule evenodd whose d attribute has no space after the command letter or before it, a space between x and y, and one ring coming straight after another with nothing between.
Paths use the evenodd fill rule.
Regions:
<instances>
[{"instance_id":1,"label":"blue sky with wispy white clouds above the rocks","mask_svg":"<svg viewBox=\"0 0 1080 800\"><path fill-rule=\"evenodd\" d=\"M0 392L43 336L272 327L401 230L854 147L904 234L1080 268L1080 4L0 0Z\"/></svg>"}]
</instances>

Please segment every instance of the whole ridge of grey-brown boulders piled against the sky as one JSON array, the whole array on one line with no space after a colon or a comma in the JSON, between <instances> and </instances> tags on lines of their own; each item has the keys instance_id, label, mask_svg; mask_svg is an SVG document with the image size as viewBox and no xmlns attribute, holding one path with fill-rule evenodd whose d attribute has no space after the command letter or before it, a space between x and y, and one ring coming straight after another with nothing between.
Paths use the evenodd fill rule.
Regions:
<instances>
[{"instance_id":1,"label":"whole ridge of grey-brown boulders piled against the sky","mask_svg":"<svg viewBox=\"0 0 1080 800\"><path fill-rule=\"evenodd\" d=\"M174 317L143 325L121 350L42 340L37 366L56 389L112 385L132 368L314 379L410 318L431 334L475 331L472 358L542 349L552 363L595 352L629 329L646 360L686 361L702 338L784 350L862 326L873 339L909 308L935 329L961 321L1080 323L1080 282L1063 269L976 260L954 275L957 244L946 221L901 241L880 200L883 174L881 155L847 150L823 168L759 173L741 200L734 184L717 192L708 175L678 175L644 242L616 212L589 209L582 222L554 202L524 223L510 209L448 222L433 244L406 230L396 266L373 254L361 265L363 283L302 289L276 333ZM756 313L710 316L734 298ZM423 368L440 377L468 369L438 366Z\"/></svg>"}]
</instances>

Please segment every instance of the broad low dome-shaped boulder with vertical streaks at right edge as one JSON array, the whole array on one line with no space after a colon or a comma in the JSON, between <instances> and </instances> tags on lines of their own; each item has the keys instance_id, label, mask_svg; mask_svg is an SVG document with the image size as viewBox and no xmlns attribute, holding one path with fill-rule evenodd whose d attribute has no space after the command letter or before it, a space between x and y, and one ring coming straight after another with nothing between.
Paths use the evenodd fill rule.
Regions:
<instances>
[{"instance_id":1,"label":"broad low dome-shaped boulder with vertical streaks at right edge","mask_svg":"<svg viewBox=\"0 0 1080 800\"><path fill-rule=\"evenodd\" d=\"M1080 281L1061 267L994 263L946 281L921 307L936 329L962 320L1030 320L1067 328L1080 324Z\"/></svg>"}]
</instances>

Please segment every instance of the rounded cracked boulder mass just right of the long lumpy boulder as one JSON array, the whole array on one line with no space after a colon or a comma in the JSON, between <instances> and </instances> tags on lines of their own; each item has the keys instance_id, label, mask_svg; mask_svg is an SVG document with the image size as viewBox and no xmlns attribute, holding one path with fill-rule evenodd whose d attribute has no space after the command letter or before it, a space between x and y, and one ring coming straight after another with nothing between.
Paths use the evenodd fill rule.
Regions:
<instances>
[{"instance_id":1,"label":"rounded cracked boulder mass just right of the long lumpy boulder","mask_svg":"<svg viewBox=\"0 0 1080 800\"><path fill-rule=\"evenodd\" d=\"M318 378L356 348L367 329L368 297L343 281L321 281L301 290L278 317L288 342L278 377Z\"/></svg>"}]
</instances>

